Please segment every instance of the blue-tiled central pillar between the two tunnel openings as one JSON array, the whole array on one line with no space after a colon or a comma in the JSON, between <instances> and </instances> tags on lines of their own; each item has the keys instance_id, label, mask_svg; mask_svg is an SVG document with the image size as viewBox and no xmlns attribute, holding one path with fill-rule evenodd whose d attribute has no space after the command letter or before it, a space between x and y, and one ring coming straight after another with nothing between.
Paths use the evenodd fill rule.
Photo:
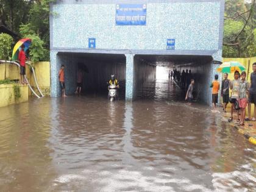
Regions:
<instances>
[{"instance_id":1,"label":"blue-tiled central pillar between the two tunnel openings","mask_svg":"<svg viewBox=\"0 0 256 192\"><path fill-rule=\"evenodd\" d=\"M133 55L126 54L126 101L133 99L133 65Z\"/></svg>"}]
</instances>

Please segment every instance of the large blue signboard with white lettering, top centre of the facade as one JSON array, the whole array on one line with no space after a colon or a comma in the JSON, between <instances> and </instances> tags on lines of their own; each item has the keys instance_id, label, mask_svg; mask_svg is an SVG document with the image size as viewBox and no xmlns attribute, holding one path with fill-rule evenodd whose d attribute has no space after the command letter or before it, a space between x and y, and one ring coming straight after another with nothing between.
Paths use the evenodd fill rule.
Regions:
<instances>
[{"instance_id":1,"label":"large blue signboard with white lettering, top centre of the facade","mask_svg":"<svg viewBox=\"0 0 256 192\"><path fill-rule=\"evenodd\" d=\"M145 26L147 15L146 4L117 4L117 26Z\"/></svg>"}]
</instances>

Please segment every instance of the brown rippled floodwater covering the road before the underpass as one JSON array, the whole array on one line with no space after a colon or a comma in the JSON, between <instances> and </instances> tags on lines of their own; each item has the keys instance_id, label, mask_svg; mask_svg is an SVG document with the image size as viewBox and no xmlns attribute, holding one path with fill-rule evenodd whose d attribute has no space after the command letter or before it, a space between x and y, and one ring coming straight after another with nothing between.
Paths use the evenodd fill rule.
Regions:
<instances>
[{"instance_id":1,"label":"brown rippled floodwater covering the road before the underpass","mask_svg":"<svg viewBox=\"0 0 256 192\"><path fill-rule=\"evenodd\" d=\"M254 191L255 147L173 83L0 108L0 191Z\"/></svg>"}]
</instances>

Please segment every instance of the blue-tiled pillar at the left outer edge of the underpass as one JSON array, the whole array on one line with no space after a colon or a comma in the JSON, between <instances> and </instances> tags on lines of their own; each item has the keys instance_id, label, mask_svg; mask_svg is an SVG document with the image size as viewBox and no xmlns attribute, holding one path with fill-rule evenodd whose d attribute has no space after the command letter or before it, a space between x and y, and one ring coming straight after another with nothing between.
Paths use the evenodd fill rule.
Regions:
<instances>
[{"instance_id":1,"label":"blue-tiled pillar at the left outer edge of the underpass","mask_svg":"<svg viewBox=\"0 0 256 192\"><path fill-rule=\"evenodd\" d=\"M51 96L60 96L60 85L58 72L60 68L59 58L57 56L57 51L51 51L50 61L51 61Z\"/></svg>"}]
</instances>

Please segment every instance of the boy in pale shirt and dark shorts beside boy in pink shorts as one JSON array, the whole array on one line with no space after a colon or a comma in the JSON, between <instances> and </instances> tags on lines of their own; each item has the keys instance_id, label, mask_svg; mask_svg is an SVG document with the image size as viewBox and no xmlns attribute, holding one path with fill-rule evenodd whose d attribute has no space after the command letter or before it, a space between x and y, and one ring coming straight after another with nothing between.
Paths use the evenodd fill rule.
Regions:
<instances>
[{"instance_id":1,"label":"boy in pale shirt and dark shorts beside boy in pink shorts","mask_svg":"<svg viewBox=\"0 0 256 192\"><path fill-rule=\"evenodd\" d=\"M232 80L232 82L230 82L230 90L232 90L232 93L231 93L231 99L230 99L230 102L231 102L231 116L229 118L229 121L233 120L233 110L234 110L234 107L235 107L236 100L238 99L238 90L239 90L239 87L240 87L239 76L240 76L239 71L235 71L234 80ZM237 110L237 116L239 117L239 110ZM240 122L240 119L238 118L238 119L236 119L236 121Z\"/></svg>"}]
</instances>

